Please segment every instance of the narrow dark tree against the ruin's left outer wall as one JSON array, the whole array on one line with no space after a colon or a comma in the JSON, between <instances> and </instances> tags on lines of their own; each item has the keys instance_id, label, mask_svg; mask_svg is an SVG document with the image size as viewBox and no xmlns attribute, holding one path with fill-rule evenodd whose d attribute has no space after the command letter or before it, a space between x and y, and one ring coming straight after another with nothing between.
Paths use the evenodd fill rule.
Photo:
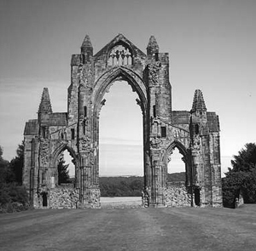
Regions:
<instances>
[{"instance_id":1,"label":"narrow dark tree against the ruin's left outer wall","mask_svg":"<svg viewBox=\"0 0 256 251\"><path fill-rule=\"evenodd\" d=\"M12 172L15 174L15 182L18 185L22 184L22 170L24 167L24 140L16 150L16 157L13 158L9 164L9 168L11 168Z\"/></svg>"}]
</instances>

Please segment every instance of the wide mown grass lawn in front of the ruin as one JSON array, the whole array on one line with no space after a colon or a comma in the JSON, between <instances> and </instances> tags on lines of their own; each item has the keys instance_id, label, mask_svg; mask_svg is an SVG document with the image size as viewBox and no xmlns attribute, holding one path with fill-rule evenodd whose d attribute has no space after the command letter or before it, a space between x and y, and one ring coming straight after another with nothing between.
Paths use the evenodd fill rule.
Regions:
<instances>
[{"instance_id":1,"label":"wide mown grass lawn in front of the ruin","mask_svg":"<svg viewBox=\"0 0 256 251\"><path fill-rule=\"evenodd\" d=\"M256 205L1 214L0 250L256 250Z\"/></svg>"}]
</instances>

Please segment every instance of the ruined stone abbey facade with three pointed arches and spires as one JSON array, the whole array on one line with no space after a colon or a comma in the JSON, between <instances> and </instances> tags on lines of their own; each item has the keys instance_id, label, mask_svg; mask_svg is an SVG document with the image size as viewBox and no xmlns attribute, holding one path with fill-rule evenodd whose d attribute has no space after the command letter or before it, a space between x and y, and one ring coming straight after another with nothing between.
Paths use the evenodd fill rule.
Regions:
<instances>
[{"instance_id":1,"label":"ruined stone abbey facade with three pointed arches and spires","mask_svg":"<svg viewBox=\"0 0 256 251\"><path fill-rule=\"evenodd\" d=\"M144 191L149 207L172 204L166 177L167 163L176 147L186 166L185 190L191 202L195 201L191 205L221 206L218 116L207 111L201 90L195 90L191 111L173 111L169 55L159 52L154 36L144 54L119 34L96 54L86 36L80 54L72 55L67 112L52 111L48 88L44 88L38 118L26 123L23 184L34 207L43 207L42 200L55 193L57 163L65 150L75 164L76 204L100 207L99 117L106 101L104 94L116 80L125 80L139 97Z\"/></svg>"}]
</instances>

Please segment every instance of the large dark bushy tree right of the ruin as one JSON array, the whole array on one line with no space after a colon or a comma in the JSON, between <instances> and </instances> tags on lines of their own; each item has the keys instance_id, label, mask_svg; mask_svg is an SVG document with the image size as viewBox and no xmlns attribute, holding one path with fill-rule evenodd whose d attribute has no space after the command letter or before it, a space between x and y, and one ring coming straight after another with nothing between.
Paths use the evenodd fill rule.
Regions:
<instances>
[{"instance_id":1,"label":"large dark bushy tree right of the ruin","mask_svg":"<svg viewBox=\"0 0 256 251\"><path fill-rule=\"evenodd\" d=\"M233 168L222 179L225 207L234 207L236 197L242 194L245 203L256 202L256 145L249 143L234 156Z\"/></svg>"}]
</instances>

